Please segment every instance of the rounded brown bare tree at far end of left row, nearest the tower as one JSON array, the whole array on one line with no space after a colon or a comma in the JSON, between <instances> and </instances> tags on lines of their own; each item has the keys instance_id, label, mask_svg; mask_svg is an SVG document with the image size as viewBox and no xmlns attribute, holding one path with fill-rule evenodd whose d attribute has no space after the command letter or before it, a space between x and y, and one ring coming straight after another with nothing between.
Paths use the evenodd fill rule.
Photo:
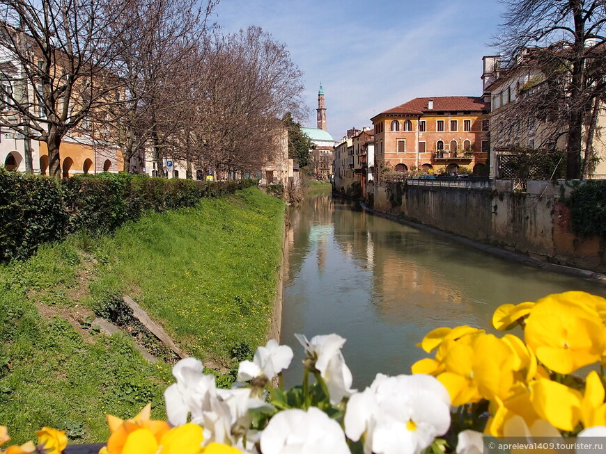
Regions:
<instances>
[{"instance_id":1,"label":"rounded brown bare tree at far end of left row, nearest the tower","mask_svg":"<svg viewBox=\"0 0 606 454\"><path fill-rule=\"evenodd\" d=\"M190 146L215 171L259 170L272 159L280 119L302 111L302 73L286 46L258 27L217 36L204 67Z\"/></svg>"}]
</instances>

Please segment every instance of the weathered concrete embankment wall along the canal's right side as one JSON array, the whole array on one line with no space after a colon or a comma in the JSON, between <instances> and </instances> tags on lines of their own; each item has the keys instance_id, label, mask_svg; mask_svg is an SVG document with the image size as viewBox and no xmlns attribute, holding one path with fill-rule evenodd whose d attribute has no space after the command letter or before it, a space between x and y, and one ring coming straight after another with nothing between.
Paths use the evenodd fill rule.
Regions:
<instances>
[{"instance_id":1,"label":"weathered concrete embankment wall along the canal's right side","mask_svg":"<svg viewBox=\"0 0 606 454\"><path fill-rule=\"evenodd\" d=\"M513 181L408 180L399 206L391 204L385 186L376 186L374 209L555 264L606 273L598 238L575 236L568 207L559 199L559 184L548 181L529 181L527 191L517 192Z\"/></svg>"}]
</instances>

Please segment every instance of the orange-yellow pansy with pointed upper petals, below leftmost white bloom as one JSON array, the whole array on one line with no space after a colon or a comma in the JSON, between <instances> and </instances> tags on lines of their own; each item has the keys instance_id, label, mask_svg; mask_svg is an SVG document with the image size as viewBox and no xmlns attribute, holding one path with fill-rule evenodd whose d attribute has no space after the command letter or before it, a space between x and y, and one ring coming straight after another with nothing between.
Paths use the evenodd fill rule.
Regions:
<instances>
[{"instance_id":1,"label":"orange-yellow pansy with pointed upper petals, below leftmost white bloom","mask_svg":"<svg viewBox=\"0 0 606 454\"><path fill-rule=\"evenodd\" d=\"M166 421L151 420L150 412L151 405L148 404L137 416L127 421L111 416L111 414L106 415L111 432L107 440L107 454L134 454L137 452L155 454L162 436L170 430L170 427ZM139 451L137 451L137 443L141 444Z\"/></svg>"}]
</instances>

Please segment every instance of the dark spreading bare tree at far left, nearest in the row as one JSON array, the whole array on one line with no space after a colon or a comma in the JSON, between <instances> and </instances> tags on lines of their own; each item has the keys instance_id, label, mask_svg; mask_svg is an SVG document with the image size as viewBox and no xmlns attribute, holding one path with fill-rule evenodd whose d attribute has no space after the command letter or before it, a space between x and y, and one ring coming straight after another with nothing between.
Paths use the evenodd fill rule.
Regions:
<instances>
[{"instance_id":1,"label":"dark spreading bare tree at far left, nearest in the row","mask_svg":"<svg viewBox=\"0 0 606 454\"><path fill-rule=\"evenodd\" d=\"M0 125L47 144L49 175L61 177L65 134L118 89L113 74L122 32L107 32L127 8L130 0L1 3Z\"/></svg>"}]
</instances>

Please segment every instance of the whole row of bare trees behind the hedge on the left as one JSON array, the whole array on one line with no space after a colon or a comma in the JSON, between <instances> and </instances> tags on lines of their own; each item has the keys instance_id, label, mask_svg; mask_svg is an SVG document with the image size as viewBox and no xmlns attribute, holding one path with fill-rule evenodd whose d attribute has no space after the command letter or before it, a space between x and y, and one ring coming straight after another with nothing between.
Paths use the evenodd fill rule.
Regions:
<instances>
[{"instance_id":1,"label":"whole row of bare trees behind the hedge on the left","mask_svg":"<svg viewBox=\"0 0 606 454\"><path fill-rule=\"evenodd\" d=\"M3 0L0 125L26 154L45 142L54 177L68 133L118 146L124 170L149 148L160 169L165 156L258 169L283 115L304 113L302 73L262 29L222 33L207 1Z\"/></svg>"}]
</instances>

